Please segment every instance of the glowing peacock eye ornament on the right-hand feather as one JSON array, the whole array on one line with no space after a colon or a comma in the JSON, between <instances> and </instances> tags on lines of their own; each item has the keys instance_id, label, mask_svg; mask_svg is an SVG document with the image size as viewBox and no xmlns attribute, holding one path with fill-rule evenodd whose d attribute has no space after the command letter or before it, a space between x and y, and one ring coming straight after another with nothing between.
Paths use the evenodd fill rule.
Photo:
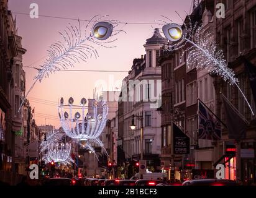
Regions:
<instances>
[{"instance_id":1,"label":"glowing peacock eye ornament on the right-hand feather","mask_svg":"<svg viewBox=\"0 0 256 198\"><path fill-rule=\"evenodd\" d=\"M178 24L166 24L163 26L163 34L170 41L178 41L182 37L183 32Z\"/></svg>"}]
</instances>

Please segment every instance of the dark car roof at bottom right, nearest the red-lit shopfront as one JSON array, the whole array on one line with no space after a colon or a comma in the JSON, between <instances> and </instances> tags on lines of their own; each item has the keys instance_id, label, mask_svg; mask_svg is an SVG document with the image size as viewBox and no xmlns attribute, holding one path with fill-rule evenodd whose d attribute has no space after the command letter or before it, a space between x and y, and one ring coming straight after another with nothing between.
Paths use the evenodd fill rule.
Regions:
<instances>
[{"instance_id":1,"label":"dark car roof at bottom right, nearest the red-lit shopfront","mask_svg":"<svg viewBox=\"0 0 256 198\"><path fill-rule=\"evenodd\" d=\"M193 179L185 181L182 186L237 186L237 183L229 179Z\"/></svg>"}]
</instances>

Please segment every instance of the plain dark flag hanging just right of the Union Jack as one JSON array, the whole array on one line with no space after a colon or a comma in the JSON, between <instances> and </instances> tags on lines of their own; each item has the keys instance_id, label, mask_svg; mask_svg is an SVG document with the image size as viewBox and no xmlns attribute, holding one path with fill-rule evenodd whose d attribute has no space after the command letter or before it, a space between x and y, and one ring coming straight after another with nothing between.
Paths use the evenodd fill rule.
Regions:
<instances>
[{"instance_id":1,"label":"plain dark flag hanging just right of the Union Jack","mask_svg":"<svg viewBox=\"0 0 256 198\"><path fill-rule=\"evenodd\" d=\"M223 94L222 101L229 139L239 140L245 138L245 129L248 121Z\"/></svg>"}]
</instances>

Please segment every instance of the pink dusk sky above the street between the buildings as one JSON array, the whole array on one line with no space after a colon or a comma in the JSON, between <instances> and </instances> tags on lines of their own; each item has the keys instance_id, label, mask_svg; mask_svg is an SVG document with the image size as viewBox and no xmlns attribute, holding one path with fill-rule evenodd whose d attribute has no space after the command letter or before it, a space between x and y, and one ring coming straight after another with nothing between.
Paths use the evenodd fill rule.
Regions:
<instances>
[{"instance_id":1,"label":"pink dusk sky above the street between the buildings","mask_svg":"<svg viewBox=\"0 0 256 198\"><path fill-rule=\"evenodd\" d=\"M185 11L191 12L193 0L9 0L9 9L17 17L18 34L22 37L23 48L27 53L23 56L23 65L39 67L47 58L48 47L57 40L62 40L58 32L62 32L68 23L77 25L75 20L53 19L40 17L30 19L29 15L14 14L21 12L29 14L30 4L39 5L39 15L51 15L75 19L91 19L94 15L109 14L107 19L116 19L121 22L156 23L155 20L163 19L164 15L173 22L180 24L182 21L175 14L180 13L185 18ZM81 22L81 29L86 22ZM121 24L120 27L123 27ZM153 28L161 28L153 25ZM99 48L98 59L88 59L87 62L76 64L73 69L80 70L117 70L129 71L134 58L145 54L144 44L147 38L152 37L151 25L127 24L122 29L127 32L117 35L118 40L112 45L116 48ZM71 68L72 69L72 68ZM29 90L37 70L24 67L26 72L26 90ZM60 126L58 121L57 103L61 97L65 102L73 97L79 104L81 98L93 98L93 89L98 80L107 84L105 90L115 90L117 84L127 72L67 72L59 71L37 83L29 94L30 106L35 108L35 121L37 125L52 124ZM46 120L45 120L46 118Z\"/></svg>"}]
</instances>

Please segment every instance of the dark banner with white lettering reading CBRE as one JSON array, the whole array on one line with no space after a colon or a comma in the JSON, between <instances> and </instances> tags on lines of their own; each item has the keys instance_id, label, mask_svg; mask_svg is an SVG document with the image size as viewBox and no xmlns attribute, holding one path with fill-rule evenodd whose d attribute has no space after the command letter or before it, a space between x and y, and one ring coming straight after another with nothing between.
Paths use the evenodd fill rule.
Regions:
<instances>
[{"instance_id":1,"label":"dark banner with white lettering reading CBRE","mask_svg":"<svg viewBox=\"0 0 256 198\"><path fill-rule=\"evenodd\" d=\"M190 153L190 137L181 131L181 129L173 123L173 153L189 154Z\"/></svg>"}]
</instances>

